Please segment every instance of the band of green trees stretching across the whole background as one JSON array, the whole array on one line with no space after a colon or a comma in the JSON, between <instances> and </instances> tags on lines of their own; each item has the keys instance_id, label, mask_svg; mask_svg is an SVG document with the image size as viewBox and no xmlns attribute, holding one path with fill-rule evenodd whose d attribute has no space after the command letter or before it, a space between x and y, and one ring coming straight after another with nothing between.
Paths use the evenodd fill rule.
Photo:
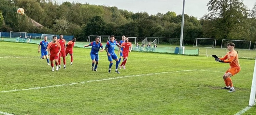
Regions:
<instances>
[{"instance_id":1,"label":"band of green trees stretching across the whole background","mask_svg":"<svg viewBox=\"0 0 256 115\"><path fill-rule=\"evenodd\" d=\"M248 9L242 0L209 0L200 19L184 15L184 43L195 38L256 41L256 2ZM16 13L25 9L25 15ZM30 18L44 27L35 27ZM182 15L168 11L148 15L114 6L52 0L0 0L0 31L74 35L180 38Z\"/></svg>"}]
</instances>

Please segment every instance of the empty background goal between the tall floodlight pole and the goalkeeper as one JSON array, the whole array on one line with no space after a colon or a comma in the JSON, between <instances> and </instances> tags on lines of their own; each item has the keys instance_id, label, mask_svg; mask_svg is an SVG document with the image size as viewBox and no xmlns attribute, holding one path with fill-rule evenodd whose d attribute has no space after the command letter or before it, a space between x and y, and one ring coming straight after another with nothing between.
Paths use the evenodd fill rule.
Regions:
<instances>
[{"instance_id":1,"label":"empty background goal between the tall floodlight pole and the goalkeeper","mask_svg":"<svg viewBox=\"0 0 256 115\"><path fill-rule=\"evenodd\" d=\"M196 38L193 47L216 47L216 39Z\"/></svg>"}]
</instances>

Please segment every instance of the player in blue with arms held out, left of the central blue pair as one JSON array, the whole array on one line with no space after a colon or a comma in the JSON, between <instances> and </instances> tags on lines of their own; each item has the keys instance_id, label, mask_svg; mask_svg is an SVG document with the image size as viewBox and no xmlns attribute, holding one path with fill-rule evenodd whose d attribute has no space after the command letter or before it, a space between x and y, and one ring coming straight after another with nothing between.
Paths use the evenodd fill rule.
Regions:
<instances>
[{"instance_id":1,"label":"player in blue with arms held out, left of the central blue pair","mask_svg":"<svg viewBox=\"0 0 256 115\"><path fill-rule=\"evenodd\" d=\"M92 62L92 66L91 66L91 70L93 70L93 71L97 71L98 61L99 61L99 54L98 54L98 52L99 51L100 52L104 51L103 46L102 46L102 44L99 41L100 41L100 38L96 37L94 42L91 42L90 44L84 46L84 47L91 46L91 53L90 53L90 55L91 55L91 60L93 61ZM101 47L101 50L100 50L100 47ZM94 63L95 63L95 67L94 67Z\"/></svg>"}]
</instances>

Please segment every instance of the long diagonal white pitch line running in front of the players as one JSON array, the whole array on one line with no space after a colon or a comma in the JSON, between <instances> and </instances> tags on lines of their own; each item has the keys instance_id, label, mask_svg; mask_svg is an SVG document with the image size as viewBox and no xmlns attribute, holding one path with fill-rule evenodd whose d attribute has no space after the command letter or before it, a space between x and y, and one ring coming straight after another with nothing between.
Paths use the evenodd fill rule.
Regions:
<instances>
[{"instance_id":1,"label":"long diagonal white pitch line running in front of the players","mask_svg":"<svg viewBox=\"0 0 256 115\"><path fill-rule=\"evenodd\" d=\"M174 72L184 72L184 71L196 71L196 70L181 70L181 71L150 73L150 74L142 74L142 75L129 75L129 76L122 76L122 77L104 78L104 79L101 79L101 80L90 80L90 81L86 81L86 82L77 82L77 83L71 83L71 84L61 84L61 85L53 85L53 86L45 86L45 87L34 87L34 88L28 88L28 89L14 89L14 90L0 91L0 93L14 92L14 91L25 91L25 90L36 90L36 89L44 89L44 88L50 88L50 87L69 86L69 85L84 84L84 83L89 83L89 82L114 80L114 79L125 78L125 77L136 77L136 76L155 75L155 74L174 73Z\"/></svg>"}]
</instances>

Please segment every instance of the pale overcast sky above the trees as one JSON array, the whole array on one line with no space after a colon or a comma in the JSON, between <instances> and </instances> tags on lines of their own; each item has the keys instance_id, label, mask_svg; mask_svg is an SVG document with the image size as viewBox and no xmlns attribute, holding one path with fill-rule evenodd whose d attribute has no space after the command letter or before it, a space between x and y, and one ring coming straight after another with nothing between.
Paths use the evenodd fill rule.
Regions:
<instances>
[{"instance_id":1,"label":"pale overcast sky above the trees","mask_svg":"<svg viewBox=\"0 0 256 115\"><path fill-rule=\"evenodd\" d=\"M173 11L182 14L183 0L56 0L58 3L65 1L88 3L93 5L116 6L118 9L137 12L147 12L149 15ZM185 14L198 19L208 13L209 0L185 0ZM243 0L248 9L252 9L256 0Z\"/></svg>"}]
</instances>

